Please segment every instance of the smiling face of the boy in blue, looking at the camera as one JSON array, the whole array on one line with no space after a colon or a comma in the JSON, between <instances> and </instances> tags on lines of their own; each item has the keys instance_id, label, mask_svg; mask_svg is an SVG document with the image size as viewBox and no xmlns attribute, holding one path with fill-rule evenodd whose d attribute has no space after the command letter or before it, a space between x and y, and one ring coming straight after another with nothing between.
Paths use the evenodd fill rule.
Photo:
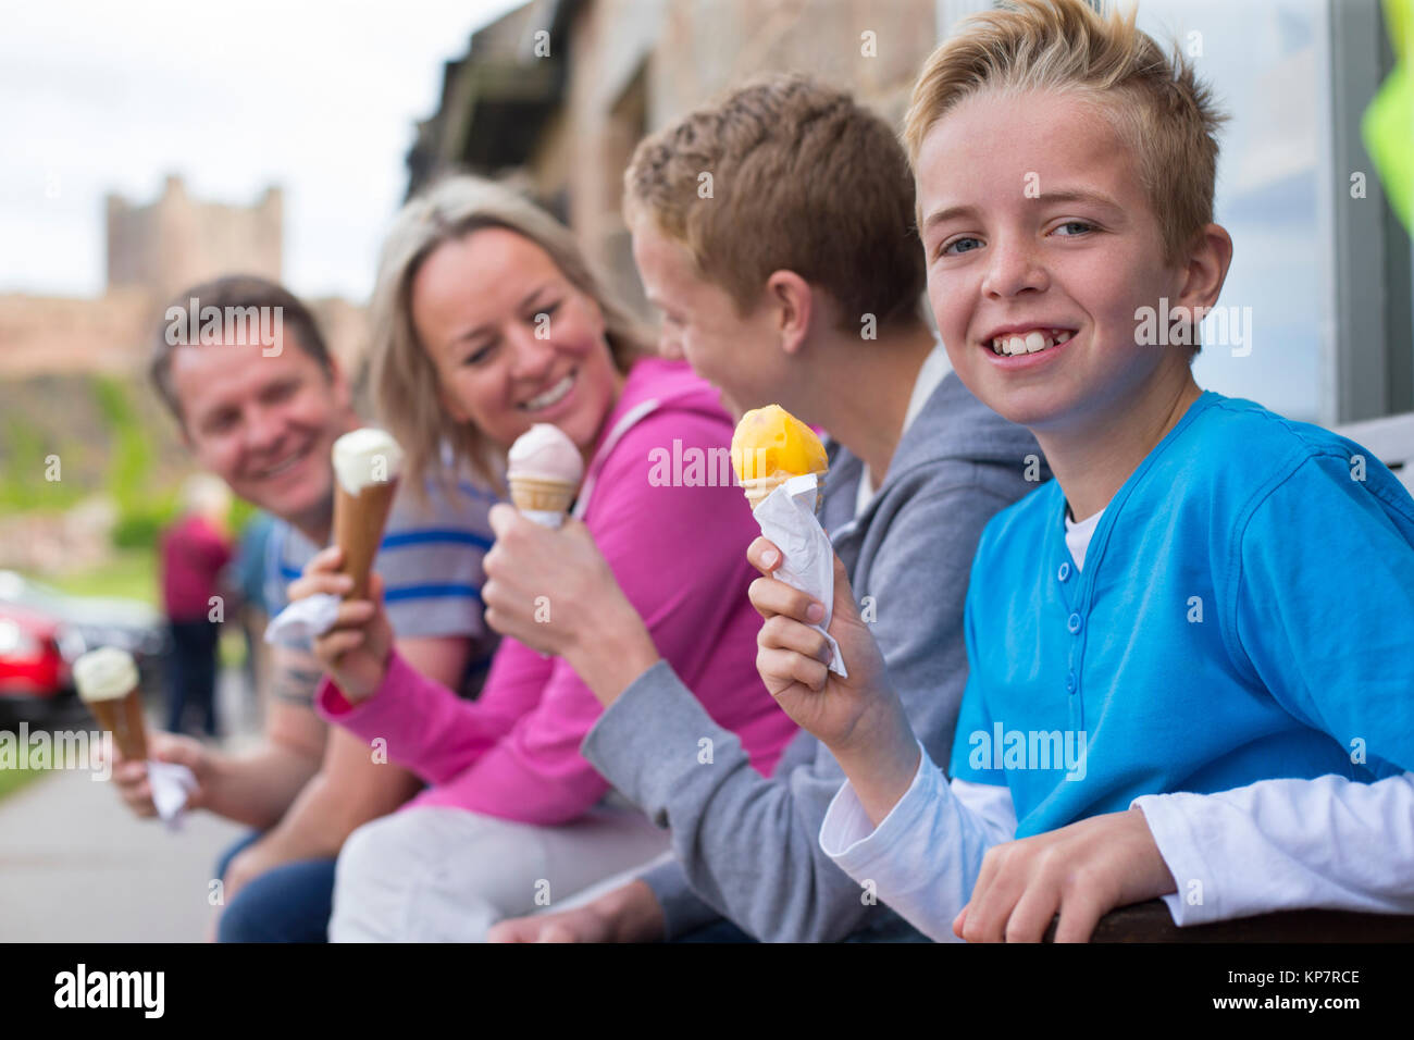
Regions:
<instances>
[{"instance_id":1,"label":"smiling face of the boy in blue, looking at the camera","mask_svg":"<svg viewBox=\"0 0 1414 1040\"><path fill-rule=\"evenodd\" d=\"M1176 303L1184 272L1165 265L1134 157L1093 100L969 98L929 130L916 174L937 328L993 410L1085 432L1167 349L1186 352L1135 341L1135 308ZM998 340L1025 349L998 355Z\"/></svg>"}]
</instances>

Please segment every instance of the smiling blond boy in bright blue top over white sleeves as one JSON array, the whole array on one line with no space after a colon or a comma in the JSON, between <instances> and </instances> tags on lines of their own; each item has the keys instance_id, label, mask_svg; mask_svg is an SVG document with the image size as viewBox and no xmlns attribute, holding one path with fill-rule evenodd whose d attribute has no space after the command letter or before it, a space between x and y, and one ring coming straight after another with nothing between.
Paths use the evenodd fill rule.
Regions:
<instances>
[{"instance_id":1,"label":"smiling blond boy in bright blue top over white sleeves","mask_svg":"<svg viewBox=\"0 0 1414 1040\"><path fill-rule=\"evenodd\" d=\"M1181 925L1414 911L1414 501L1359 444L1198 388L1232 260L1209 93L1133 14L1017 7L933 54L905 139L953 368L1056 480L978 545L950 782L839 565L847 679L810 600L754 584L762 676L848 777L822 846L939 940L1059 914L1085 941L1154 897Z\"/></svg>"}]
</instances>

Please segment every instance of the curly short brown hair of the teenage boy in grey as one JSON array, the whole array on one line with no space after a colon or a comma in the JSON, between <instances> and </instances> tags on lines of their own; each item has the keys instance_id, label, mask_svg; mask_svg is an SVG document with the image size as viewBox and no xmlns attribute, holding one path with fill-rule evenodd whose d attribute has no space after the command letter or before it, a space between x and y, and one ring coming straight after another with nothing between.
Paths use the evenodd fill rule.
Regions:
<instances>
[{"instance_id":1,"label":"curly short brown hair of the teenage boy in grey","mask_svg":"<svg viewBox=\"0 0 1414 1040\"><path fill-rule=\"evenodd\" d=\"M738 314L775 270L824 289L854 328L864 314L880 325L922 314L908 158L880 116L806 76L752 81L646 137L624 212L682 242Z\"/></svg>"}]
</instances>

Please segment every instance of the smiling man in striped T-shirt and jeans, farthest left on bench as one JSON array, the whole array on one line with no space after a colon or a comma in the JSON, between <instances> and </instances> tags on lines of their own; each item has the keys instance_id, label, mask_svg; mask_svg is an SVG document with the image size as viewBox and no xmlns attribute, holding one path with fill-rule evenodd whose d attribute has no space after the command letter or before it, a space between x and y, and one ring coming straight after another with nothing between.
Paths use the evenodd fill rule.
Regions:
<instances>
[{"instance_id":1,"label":"smiling man in striped T-shirt and jeans, farthest left on bench","mask_svg":"<svg viewBox=\"0 0 1414 1040\"><path fill-rule=\"evenodd\" d=\"M177 304L189 300L222 313L259 308L280 330L280 342L273 345L247 342L235 330L199 342L173 335L164 323L151 362L153 385L202 468L276 516L266 589L270 610L277 613L287 583L328 543L331 449L362 422L314 317L287 290L232 276L181 293ZM493 497L469 481L460 483L451 498L430 487L426 502L407 491L395 504L375 563L387 587L399 651L421 672L467 692L484 678L491 651L479 587L481 556L491 542L486 508ZM157 733L151 750L156 758L197 774L194 808L255 828L218 867L226 903L219 937L322 941L334 860L344 839L402 805L419 781L376 761L356 739L327 733L312 709L321 672L307 644L276 647L271 665L266 739L259 749L229 756ZM120 763L113 775L134 812L154 815L144 763Z\"/></svg>"}]
</instances>

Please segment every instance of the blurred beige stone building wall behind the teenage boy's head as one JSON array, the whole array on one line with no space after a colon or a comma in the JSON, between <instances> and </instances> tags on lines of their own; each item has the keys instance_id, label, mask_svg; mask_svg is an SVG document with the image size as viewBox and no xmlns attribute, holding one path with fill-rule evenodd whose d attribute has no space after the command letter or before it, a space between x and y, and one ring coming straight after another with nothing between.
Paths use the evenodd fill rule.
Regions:
<instances>
[{"instance_id":1,"label":"blurred beige stone building wall behind the teenage boy's head","mask_svg":"<svg viewBox=\"0 0 1414 1040\"><path fill-rule=\"evenodd\" d=\"M898 125L937 17L936 0L595 0L570 34L564 140L530 178L542 197L563 184L581 248L642 307L619 201L643 134L762 72L848 88Z\"/></svg>"}]
</instances>

